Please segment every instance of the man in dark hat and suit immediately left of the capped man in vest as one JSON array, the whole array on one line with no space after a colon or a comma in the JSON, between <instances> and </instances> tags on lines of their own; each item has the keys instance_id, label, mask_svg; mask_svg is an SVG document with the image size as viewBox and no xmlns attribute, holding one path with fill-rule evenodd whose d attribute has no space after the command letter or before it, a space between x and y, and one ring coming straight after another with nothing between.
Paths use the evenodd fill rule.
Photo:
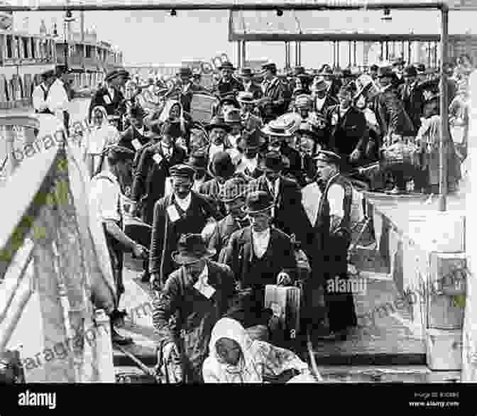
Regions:
<instances>
[{"instance_id":1,"label":"man in dark hat and suit immediately left of the capped man in vest","mask_svg":"<svg viewBox=\"0 0 477 416\"><path fill-rule=\"evenodd\" d=\"M270 195L270 213L273 225L306 246L309 224L302 207L302 194L297 181L282 175L285 165L280 153L265 154L259 164L263 175L249 182L249 192L263 191ZM305 247L306 249L306 247ZM306 250L305 250L306 251Z\"/></svg>"}]
</instances>

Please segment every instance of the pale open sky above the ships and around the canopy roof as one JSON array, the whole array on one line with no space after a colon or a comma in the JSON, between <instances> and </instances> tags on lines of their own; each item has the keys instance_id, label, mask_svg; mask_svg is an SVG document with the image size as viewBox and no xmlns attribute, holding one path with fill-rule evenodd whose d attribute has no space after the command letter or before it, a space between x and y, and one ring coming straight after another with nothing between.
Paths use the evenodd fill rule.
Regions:
<instances>
[{"instance_id":1,"label":"pale open sky above the ships and around the canopy roof","mask_svg":"<svg viewBox=\"0 0 477 416\"><path fill-rule=\"evenodd\" d=\"M333 31L336 27L336 18L323 19L324 12L310 13L321 13L317 22L319 21L322 28L327 25L327 29ZM380 12L378 15L371 14L377 13L375 11L368 12L366 23L356 18L356 13L360 12L331 13L351 13L346 15L346 25L356 31L366 31L367 27L373 27L373 22L378 22L374 23L376 25L380 23ZM73 12L73 16L78 17L79 12ZM61 33L63 17L61 12L15 13L15 27L21 28L26 17L28 31L38 33L40 21L44 19L47 28L51 28L53 21L56 21L58 31ZM476 33L474 28L476 17L477 11L450 12L449 33L465 33L467 30ZM86 28L94 26L100 40L112 43L123 51L126 65L148 63L180 65L182 60L210 61L221 53L226 53L232 62L236 62L236 45L228 40L228 11L177 11L177 16L170 16L166 11L86 11L84 18ZM339 20L341 25L343 20L342 18ZM78 21L73 25L75 30L79 31ZM392 25L402 27L404 31L415 28L422 33L439 33L439 13L393 11ZM251 60L273 60L281 67L284 64L284 54L283 43L247 44L247 58ZM341 62L347 60L347 57L346 48L342 48ZM292 62L293 60L294 55ZM317 67L331 60L331 46L327 43L303 44L302 65Z\"/></svg>"}]
</instances>

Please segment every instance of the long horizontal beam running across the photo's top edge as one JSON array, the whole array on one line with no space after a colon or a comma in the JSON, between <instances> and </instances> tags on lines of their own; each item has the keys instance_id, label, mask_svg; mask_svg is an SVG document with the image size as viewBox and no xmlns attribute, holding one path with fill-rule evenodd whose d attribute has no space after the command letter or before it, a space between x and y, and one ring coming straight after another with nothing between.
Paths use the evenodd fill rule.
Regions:
<instances>
[{"instance_id":1,"label":"long horizontal beam running across the photo's top edge","mask_svg":"<svg viewBox=\"0 0 477 416\"><path fill-rule=\"evenodd\" d=\"M31 0L0 3L0 10L319 10L319 9L438 9L476 10L477 0Z\"/></svg>"}]
</instances>

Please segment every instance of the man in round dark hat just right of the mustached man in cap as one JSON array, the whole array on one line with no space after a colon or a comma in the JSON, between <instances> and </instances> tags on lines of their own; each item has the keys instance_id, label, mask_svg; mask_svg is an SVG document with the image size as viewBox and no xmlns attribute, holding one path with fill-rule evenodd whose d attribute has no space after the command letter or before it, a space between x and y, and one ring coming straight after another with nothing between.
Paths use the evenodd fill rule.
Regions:
<instances>
[{"instance_id":1,"label":"man in round dark hat just right of the mustached man in cap","mask_svg":"<svg viewBox=\"0 0 477 416\"><path fill-rule=\"evenodd\" d=\"M217 211L223 218L226 216L226 211L219 195L225 186L226 180L229 180L235 174L235 165L232 162L231 155L226 151L215 153L209 164L209 173L212 174L213 178L199 187L199 194L206 195L214 201Z\"/></svg>"}]
</instances>

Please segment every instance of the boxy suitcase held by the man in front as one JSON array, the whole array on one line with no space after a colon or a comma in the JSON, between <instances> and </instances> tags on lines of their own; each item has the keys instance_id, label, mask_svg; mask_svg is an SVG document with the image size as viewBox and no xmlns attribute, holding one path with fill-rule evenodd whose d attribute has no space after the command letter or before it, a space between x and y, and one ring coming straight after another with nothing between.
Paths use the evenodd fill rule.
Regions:
<instances>
[{"instance_id":1,"label":"boxy suitcase held by the man in front","mask_svg":"<svg viewBox=\"0 0 477 416\"><path fill-rule=\"evenodd\" d=\"M273 310L287 339L295 339L300 332L302 291L295 286L265 286L265 308Z\"/></svg>"}]
</instances>

